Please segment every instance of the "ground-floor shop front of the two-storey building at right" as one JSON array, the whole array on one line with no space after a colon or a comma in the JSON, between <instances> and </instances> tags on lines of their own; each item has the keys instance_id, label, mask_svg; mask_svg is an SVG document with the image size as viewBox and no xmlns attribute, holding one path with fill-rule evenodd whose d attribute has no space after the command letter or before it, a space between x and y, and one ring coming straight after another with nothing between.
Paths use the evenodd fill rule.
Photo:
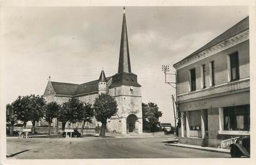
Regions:
<instances>
[{"instance_id":1,"label":"ground-floor shop front of the two-storey building at right","mask_svg":"<svg viewBox=\"0 0 256 165\"><path fill-rule=\"evenodd\" d=\"M218 148L225 139L250 136L250 90L178 103L179 142Z\"/></svg>"}]
</instances>

